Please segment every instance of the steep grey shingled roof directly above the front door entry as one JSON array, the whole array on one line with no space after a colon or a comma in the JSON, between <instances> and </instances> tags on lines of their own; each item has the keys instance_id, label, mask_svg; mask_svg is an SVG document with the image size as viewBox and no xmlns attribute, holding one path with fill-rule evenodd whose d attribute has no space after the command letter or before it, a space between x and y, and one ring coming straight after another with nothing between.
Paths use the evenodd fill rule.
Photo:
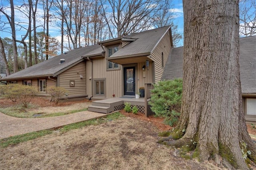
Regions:
<instances>
[{"instance_id":1,"label":"steep grey shingled roof directly above the front door entry","mask_svg":"<svg viewBox=\"0 0 256 170\"><path fill-rule=\"evenodd\" d=\"M168 32L169 29L170 26L164 26L153 30L123 36L122 38L136 40L116 51L113 55L110 56L110 58L150 54L150 52L152 52L154 47L158 44L158 42L161 40L164 34Z\"/></svg>"}]
</instances>

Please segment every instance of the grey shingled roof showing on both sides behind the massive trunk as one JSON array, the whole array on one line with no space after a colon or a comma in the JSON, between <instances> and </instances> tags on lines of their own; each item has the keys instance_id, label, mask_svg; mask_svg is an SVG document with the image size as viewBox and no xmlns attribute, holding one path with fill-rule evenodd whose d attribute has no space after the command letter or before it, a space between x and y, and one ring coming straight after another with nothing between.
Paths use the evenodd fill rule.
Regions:
<instances>
[{"instance_id":1,"label":"grey shingled roof showing on both sides behind the massive trunk","mask_svg":"<svg viewBox=\"0 0 256 170\"><path fill-rule=\"evenodd\" d=\"M256 93L256 36L239 39L240 79L243 94ZM183 47L170 51L162 80L183 77Z\"/></svg>"}]
</instances>

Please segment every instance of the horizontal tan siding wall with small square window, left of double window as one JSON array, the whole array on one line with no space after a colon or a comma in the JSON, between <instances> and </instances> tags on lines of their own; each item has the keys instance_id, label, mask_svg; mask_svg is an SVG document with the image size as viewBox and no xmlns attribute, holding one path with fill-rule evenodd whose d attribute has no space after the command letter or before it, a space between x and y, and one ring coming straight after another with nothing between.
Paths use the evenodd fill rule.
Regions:
<instances>
[{"instance_id":1,"label":"horizontal tan siding wall with small square window, left of double window","mask_svg":"<svg viewBox=\"0 0 256 170\"><path fill-rule=\"evenodd\" d=\"M82 75L83 78L80 78ZM68 96L86 95L86 62L82 61L70 69L60 73L59 87L68 90ZM74 87L70 87L70 81L75 81Z\"/></svg>"}]
</instances>

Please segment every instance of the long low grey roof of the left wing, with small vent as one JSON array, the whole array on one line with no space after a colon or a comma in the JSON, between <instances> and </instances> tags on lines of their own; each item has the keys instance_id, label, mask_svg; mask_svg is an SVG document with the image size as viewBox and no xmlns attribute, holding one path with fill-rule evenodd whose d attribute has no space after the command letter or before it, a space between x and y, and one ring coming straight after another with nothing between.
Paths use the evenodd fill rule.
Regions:
<instances>
[{"instance_id":1,"label":"long low grey roof of the left wing, with small vent","mask_svg":"<svg viewBox=\"0 0 256 170\"><path fill-rule=\"evenodd\" d=\"M31 67L28 67L24 70L18 71L7 77L2 78L1 80L11 80L11 79L24 79L24 78L33 78L33 77L47 77L47 76L56 76L66 69L76 65L77 63L83 61L81 58L82 55L90 53L92 51L97 51L101 49L100 45L91 45L88 47L82 47L68 51L66 54L61 54ZM65 59L64 63L60 64L60 59Z\"/></svg>"}]
</instances>

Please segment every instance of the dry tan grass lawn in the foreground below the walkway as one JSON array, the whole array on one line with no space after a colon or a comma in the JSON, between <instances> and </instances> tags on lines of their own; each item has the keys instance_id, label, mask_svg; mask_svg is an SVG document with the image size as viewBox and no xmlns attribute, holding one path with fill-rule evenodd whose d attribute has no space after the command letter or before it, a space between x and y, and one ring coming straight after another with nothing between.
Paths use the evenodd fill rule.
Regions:
<instances>
[{"instance_id":1,"label":"dry tan grass lawn in the foreground below the walkway","mask_svg":"<svg viewBox=\"0 0 256 170\"><path fill-rule=\"evenodd\" d=\"M0 169L216 170L209 162L174 156L157 144L159 130L150 122L125 117L117 121L54 133L0 148Z\"/></svg>"}]
</instances>

